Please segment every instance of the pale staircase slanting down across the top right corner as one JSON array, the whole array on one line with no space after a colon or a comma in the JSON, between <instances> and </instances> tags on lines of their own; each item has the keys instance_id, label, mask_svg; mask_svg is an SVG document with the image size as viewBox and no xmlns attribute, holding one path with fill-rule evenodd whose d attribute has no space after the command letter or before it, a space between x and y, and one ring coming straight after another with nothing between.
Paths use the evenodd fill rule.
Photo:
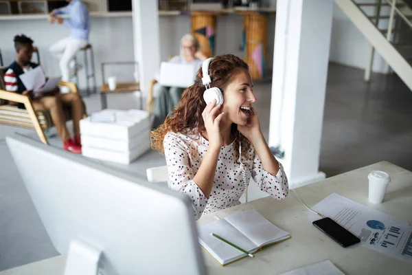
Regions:
<instances>
[{"instance_id":1,"label":"pale staircase slanting down across the top right corner","mask_svg":"<svg viewBox=\"0 0 412 275\"><path fill-rule=\"evenodd\" d=\"M374 50L412 90L412 0L335 0L371 43L365 71L369 80Z\"/></svg>"}]
</instances>

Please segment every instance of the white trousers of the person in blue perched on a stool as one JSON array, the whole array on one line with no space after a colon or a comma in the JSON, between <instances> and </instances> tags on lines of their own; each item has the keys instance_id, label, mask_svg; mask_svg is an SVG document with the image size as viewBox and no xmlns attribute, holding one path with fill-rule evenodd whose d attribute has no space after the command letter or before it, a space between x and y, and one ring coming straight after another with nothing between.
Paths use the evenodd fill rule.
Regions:
<instances>
[{"instance_id":1,"label":"white trousers of the person in blue perched on a stool","mask_svg":"<svg viewBox=\"0 0 412 275\"><path fill-rule=\"evenodd\" d=\"M62 72L62 80L70 80L70 63L76 53L85 45L88 41L84 39L73 39L67 37L54 43L50 48L50 53L56 58L60 59L60 71Z\"/></svg>"}]
</instances>

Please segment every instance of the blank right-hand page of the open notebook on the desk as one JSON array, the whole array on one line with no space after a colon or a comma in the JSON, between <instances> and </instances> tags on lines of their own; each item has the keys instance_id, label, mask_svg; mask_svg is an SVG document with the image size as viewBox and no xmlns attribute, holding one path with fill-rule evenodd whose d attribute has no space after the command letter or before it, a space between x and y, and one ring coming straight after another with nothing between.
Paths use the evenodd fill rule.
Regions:
<instances>
[{"instance_id":1,"label":"blank right-hand page of the open notebook on the desk","mask_svg":"<svg viewBox=\"0 0 412 275\"><path fill-rule=\"evenodd\" d=\"M238 212L225 219L258 247L282 241L290 236L288 232L277 228L256 210Z\"/></svg>"}]
</instances>

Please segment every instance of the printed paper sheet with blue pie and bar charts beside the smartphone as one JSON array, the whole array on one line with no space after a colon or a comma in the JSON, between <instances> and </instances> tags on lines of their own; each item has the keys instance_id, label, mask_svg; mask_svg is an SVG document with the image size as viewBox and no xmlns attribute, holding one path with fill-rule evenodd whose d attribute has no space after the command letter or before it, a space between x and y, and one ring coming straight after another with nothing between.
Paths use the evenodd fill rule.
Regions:
<instances>
[{"instance_id":1,"label":"printed paper sheet with blue pie and bar charts beside the smartphone","mask_svg":"<svg viewBox=\"0 0 412 275\"><path fill-rule=\"evenodd\" d=\"M363 247L412 263L412 226L406 221L336 193L312 209L358 236Z\"/></svg>"}]
</instances>

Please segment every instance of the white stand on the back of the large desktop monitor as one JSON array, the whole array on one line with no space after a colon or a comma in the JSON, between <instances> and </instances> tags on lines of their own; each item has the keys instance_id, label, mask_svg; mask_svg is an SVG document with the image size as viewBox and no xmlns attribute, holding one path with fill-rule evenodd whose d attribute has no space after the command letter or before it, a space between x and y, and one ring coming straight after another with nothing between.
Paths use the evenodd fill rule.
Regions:
<instances>
[{"instance_id":1,"label":"white stand on the back of the large desktop monitor","mask_svg":"<svg viewBox=\"0 0 412 275\"><path fill-rule=\"evenodd\" d=\"M96 275L102 251L89 243L73 239L65 267L65 275Z\"/></svg>"}]
</instances>

